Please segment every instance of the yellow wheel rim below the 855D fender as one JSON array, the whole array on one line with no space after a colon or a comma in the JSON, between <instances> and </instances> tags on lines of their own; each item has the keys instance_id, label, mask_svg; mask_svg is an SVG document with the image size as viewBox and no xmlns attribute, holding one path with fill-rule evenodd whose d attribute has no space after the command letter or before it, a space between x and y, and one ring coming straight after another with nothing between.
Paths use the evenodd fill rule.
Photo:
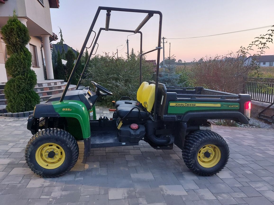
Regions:
<instances>
[{"instance_id":1,"label":"yellow wheel rim below the 855D fender","mask_svg":"<svg viewBox=\"0 0 274 205\"><path fill-rule=\"evenodd\" d=\"M65 161L65 151L58 144L45 143L36 150L35 159L41 167L55 169Z\"/></svg>"}]
</instances>

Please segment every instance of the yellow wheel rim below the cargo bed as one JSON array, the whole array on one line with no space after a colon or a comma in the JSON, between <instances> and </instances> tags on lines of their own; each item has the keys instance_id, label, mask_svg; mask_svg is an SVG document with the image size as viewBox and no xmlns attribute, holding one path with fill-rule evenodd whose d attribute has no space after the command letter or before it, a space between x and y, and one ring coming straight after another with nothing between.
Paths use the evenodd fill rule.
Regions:
<instances>
[{"instance_id":1,"label":"yellow wheel rim below the cargo bed","mask_svg":"<svg viewBox=\"0 0 274 205\"><path fill-rule=\"evenodd\" d=\"M216 145L204 145L197 154L198 163L205 167L211 168L218 164L221 159L221 151Z\"/></svg>"}]
</instances>

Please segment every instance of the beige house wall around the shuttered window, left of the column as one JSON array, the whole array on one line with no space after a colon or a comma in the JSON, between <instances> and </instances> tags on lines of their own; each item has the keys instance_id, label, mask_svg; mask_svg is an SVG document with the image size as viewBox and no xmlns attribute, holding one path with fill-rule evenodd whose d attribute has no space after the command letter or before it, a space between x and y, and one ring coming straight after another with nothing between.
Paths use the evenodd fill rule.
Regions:
<instances>
[{"instance_id":1,"label":"beige house wall around the shuttered window, left of the column","mask_svg":"<svg viewBox=\"0 0 274 205\"><path fill-rule=\"evenodd\" d=\"M37 37L31 36L30 44L36 46L37 48L37 57L38 57L38 67L39 68L32 68L36 75L37 80L45 80L44 78L44 71L43 71L43 62L42 62L42 54L41 54L41 41Z\"/></svg>"}]
</instances>

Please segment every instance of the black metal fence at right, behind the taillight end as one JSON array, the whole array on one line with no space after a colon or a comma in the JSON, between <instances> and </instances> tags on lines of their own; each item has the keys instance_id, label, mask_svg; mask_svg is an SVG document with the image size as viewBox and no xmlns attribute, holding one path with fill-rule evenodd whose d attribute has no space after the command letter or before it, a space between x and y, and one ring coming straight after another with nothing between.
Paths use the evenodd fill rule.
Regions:
<instances>
[{"instance_id":1,"label":"black metal fence at right, behind the taillight end","mask_svg":"<svg viewBox=\"0 0 274 205\"><path fill-rule=\"evenodd\" d=\"M260 102L274 102L274 78L247 78L244 93Z\"/></svg>"}]
</instances>

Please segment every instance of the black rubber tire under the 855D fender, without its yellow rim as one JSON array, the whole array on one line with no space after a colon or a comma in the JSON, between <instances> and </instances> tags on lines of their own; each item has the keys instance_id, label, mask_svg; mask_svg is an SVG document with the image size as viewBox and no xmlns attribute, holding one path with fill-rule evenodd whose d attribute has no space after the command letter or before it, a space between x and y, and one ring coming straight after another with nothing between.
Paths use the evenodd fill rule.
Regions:
<instances>
[{"instance_id":1,"label":"black rubber tire under the 855D fender, without its yellow rim","mask_svg":"<svg viewBox=\"0 0 274 205\"><path fill-rule=\"evenodd\" d=\"M36 161L36 150L45 143L56 143L64 149L65 160L62 165L55 169L45 169ZM59 177L70 171L75 165L78 156L79 147L75 138L67 131L56 128L48 128L37 132L28 141L25 149L25 159L29 168L34 173L46 178Z\"/></svg>"}]
</instances>

